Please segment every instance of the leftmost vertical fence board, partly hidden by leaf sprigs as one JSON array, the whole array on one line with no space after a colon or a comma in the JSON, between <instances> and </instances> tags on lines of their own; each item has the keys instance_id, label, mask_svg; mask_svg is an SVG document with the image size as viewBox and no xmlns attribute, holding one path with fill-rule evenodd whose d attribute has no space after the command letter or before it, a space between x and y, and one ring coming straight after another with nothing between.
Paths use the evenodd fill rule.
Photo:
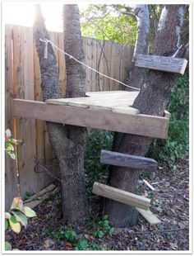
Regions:
<instances>
[{"instance_id":1,"label":"leftmost vertical fence board, partly hidden by leaf sprigs","mask_svg":"<svg viewBox=\"0 0 194 256\"><path fill-rule=\"evenodd\" d=\"M5 27L5 129L10 129L14 134L12 97L12 26ZM17 197L16 161L7 154L5 156L5 208L9 209L13 197Z\"/></svg>"}]
</instances>

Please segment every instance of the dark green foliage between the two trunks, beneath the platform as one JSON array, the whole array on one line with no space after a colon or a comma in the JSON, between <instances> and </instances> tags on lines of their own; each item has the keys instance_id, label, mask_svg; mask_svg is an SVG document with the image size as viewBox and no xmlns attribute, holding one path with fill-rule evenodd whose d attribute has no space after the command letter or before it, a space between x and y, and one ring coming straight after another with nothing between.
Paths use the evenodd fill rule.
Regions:
<instances>
[{"instance_id":1,"label":"dark green foliage between the two trunks, beneath the platform","mask_svg":"<svg viewBox=\"0 0 194 256\"><path fill-rule=\"evenodd\" d=\"M101 149L111 149L113 133L107 130L88 129L88 140L85 149L85 173L87 174L88 192L91 192L93 183L107 177L108 166L100 164Z\"/></svg>"}]
</instances>

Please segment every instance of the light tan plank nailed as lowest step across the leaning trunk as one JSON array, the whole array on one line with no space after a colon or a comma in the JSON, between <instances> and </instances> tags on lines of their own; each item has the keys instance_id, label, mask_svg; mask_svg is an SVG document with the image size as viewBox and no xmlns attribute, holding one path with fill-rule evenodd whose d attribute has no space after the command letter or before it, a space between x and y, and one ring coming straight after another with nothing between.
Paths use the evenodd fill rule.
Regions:
<instances>
[{"instance_id":1,"label":"light tan plank nailed as lowest step across the leaning trunk","mask_svg":"<svg viewBox=\"0 0 194 256\"><path fill-rule=\"evenodd\" d=\"M109 199L113 199L114 201L119 201L129 206L138 207L144 210L147 210L150 206L149 198L141 197L131 192L126 192L102 183L94 183L92 192L99 196L107 197Z\"/></svg>"}]
</instances>

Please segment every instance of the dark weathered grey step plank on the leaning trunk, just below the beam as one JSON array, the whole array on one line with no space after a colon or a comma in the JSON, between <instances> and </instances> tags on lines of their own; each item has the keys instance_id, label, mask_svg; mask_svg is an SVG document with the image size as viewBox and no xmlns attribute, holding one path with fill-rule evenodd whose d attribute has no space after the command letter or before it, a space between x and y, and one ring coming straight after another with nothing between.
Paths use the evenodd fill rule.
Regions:
<instances>
[{"instance_id":1,"label":"dark weathered grey step plank on the leaning trunk, just below the beam","mask_svg":"<svg viewBox=\"0 0 194 256\"><path fill-rule=\"evenodd\" d=\"M154 159L148 159L132 154L122 154L108 150L101 150L100 163L145 169L149 171L156 171L158 168L158 163Z\"/></svg>"}]
</instances>

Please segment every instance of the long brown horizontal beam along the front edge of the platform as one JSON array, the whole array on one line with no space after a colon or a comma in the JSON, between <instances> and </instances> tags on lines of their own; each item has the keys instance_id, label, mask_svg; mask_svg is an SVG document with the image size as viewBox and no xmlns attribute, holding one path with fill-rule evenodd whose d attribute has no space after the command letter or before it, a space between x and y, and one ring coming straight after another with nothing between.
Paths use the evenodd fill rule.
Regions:
<instances>
[{"instance_id":1,"label":"long brown horizontal beam along the front edge of the platform","mask_svg":"<svg viewBox=\"0 0 194 256\"><path fill-rule=\"evenodd\" d=\"M13 100L13 112L14 116L162 139L167 138L169 127L169 118L161 116L129 115L21 99Z\"/></svg>"}]
</instances>

